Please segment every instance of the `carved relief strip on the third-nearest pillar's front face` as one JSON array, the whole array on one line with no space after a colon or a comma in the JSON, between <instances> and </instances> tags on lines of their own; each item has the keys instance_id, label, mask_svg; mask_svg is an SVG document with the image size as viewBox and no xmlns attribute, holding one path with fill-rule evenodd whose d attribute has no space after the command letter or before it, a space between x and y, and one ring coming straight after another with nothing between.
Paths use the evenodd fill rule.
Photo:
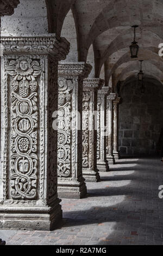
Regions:
<instances>
[{"instance_id":1,"label":"carved relief strip on the third-nearest pillar's front face","mask_svg":"<svg viewBox=\"0 0 163 256\"><path fill-rule=\"evenodd\" d=\"M83 92L83 168L89 167L89 111L90 111L89 92Z\"/></svg>"}]
</instances>

